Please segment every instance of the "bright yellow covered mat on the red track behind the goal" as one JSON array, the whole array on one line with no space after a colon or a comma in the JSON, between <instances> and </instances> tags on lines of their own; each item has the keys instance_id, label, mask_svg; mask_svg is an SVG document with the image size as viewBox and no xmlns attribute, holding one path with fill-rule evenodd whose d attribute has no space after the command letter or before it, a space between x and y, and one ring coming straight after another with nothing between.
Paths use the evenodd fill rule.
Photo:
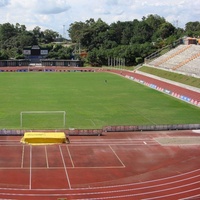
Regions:
<instances>
[{"instance_id":1,"label":"bright yellow covered mat on the red track behind the goal","mask_svg":"<svg viewBox=\"0 0 200 200\"><path fill-rule=\"evenodd\" d=\"M64 132L26 132L21 139L22 143L32 145L66 143Z\"/></svg>"}]
</instances>

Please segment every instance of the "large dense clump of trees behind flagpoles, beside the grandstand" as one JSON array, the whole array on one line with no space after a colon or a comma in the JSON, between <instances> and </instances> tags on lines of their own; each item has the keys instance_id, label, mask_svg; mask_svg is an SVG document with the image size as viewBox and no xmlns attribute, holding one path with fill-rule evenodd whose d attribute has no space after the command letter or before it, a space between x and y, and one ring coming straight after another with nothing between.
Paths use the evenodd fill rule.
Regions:
<instances>
[{"instance_id":1,"label":"large dense clump of trees behind flagpoles, beside the grandstand","mask_svg":"<svg viewBox=\"0 0 200 200\"><path fill-rule=\"evenodd\" d=\"M134 19L107 25L101 19L71 24L69 35L88 53L88 61L106 64L108 57L126 58L127 65L144 60L157 48L173 43L182 35L163 17L149 15L141 21Z\"/></svg>"}]
</instances>

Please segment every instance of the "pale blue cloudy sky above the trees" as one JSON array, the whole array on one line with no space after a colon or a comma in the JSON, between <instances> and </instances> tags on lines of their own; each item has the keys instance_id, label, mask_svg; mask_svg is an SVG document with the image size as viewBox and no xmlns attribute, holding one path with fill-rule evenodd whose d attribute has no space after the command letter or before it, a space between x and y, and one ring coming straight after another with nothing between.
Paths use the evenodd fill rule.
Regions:
<instances>
[{"instance_id":1,"label":"pale blue cloudy sky above the trees","mask_svg":"<svg viewBox=\"0 0 200 200\"><path fill-rule=\"evenodd\" d=\"M141 20L150 14L176 27L200 21L199 0L0 0L0 24L36 26L68 37L71 23L101 18L107 24Z\"/></svg>"}]
</instances>

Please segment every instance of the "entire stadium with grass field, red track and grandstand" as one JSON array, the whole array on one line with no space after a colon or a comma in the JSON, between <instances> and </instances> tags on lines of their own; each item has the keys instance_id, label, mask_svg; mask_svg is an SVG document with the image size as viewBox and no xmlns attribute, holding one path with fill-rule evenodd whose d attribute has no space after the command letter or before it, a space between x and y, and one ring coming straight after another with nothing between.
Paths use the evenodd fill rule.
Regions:
<instances>
[{"instance_id":1,"label":"entire stadium with grass field, red track and grandstand","mask_svg":"<svg viewBox=\"0 0 200 200\"><path fill-rule=\"evenodd\" d=\"M0 62L0 198L200 198L200 89L142 70L198 79L199 59L189 44L134 71Z\"/></svg>"}]
</instances>

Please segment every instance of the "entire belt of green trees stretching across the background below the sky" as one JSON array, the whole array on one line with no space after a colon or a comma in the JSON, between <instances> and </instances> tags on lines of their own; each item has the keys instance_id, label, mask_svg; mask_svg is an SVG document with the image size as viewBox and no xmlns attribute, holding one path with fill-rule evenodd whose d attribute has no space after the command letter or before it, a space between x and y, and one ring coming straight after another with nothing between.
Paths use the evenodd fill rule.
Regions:
<instances>
[{"instance_id":1,"label":"entire belt of green trees stretching across the background below the sky","mask_svg":"<svg viewBox=\"0 0 200 200\"><path fill-rule=\"evenodd\" d=\"M184 35L200 36L200 22L188 22L185 31L175 28L163 17L149 15L142 20L114 22L110 25L103 20L90 18L85 22L74 22L69 27L71 48L55 45L59 34L53 30L41 30L36 26L27 31L25 25L16 23L0 24L0 59L22 57L25 46L40 45L49 49L49 58L71 59L77 45L88 52L88 59L97 65L106 65L107 58L126 58L127 65L135 65L147 55Z\"/></svg>"}]
</instances>

